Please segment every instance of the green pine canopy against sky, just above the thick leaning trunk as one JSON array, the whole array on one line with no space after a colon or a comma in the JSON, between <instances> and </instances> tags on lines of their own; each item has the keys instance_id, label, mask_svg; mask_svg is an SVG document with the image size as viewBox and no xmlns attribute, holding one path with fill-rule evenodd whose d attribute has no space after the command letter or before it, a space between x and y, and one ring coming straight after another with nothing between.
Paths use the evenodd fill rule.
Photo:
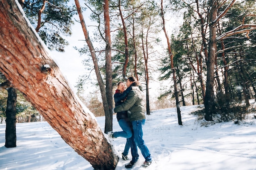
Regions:
<instances>
[{"instance_id":1,"label":"green pine canopy against sky, just above the thick leaning trunk","mask_svg":"<svg viewBox=\"0 0 256 170\"><path fill-rule=\"evenodd\" d=\"M65 36L72 35L72 16L76 14L76 8L68 2L69 0L25 0L22 5L26 17L50 50L64 52L65 46L69 45Z\"/></svg>"}]
</instances>

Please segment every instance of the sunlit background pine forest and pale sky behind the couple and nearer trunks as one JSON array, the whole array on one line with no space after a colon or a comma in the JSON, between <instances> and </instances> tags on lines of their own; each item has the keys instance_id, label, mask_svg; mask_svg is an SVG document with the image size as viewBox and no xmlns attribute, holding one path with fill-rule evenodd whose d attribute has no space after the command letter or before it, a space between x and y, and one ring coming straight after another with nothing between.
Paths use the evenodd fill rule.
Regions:
<instances>
[{"instance_id":1,"label":"sunlit background pine forest and pale sky behind the couple and nearer trunks","mask_svg":"<svg viewBox=\"0 0 256 170\"><path fill-rule=\"evenodd\" d=\"M81 4L83 4L84 9L86 8L84 12L84 16L87 17L85 22L88 23L91 39L97 49L97 60L103 79L108 81L104 77L105 56L103 51L105 42L102 38L103 27L97 25L102 23L103 19L100 13L101 8L97 9L97 5L102 2L84 2ZM226 9L231 2L233 1L225 1L225 3L219 4L219 13ZM69 2L69 4L72 5L73 3ZM207 77L206 60L208 52L205 50L208 50L207 48L209 47L210 7L208 1L165 1L163 4L163 13L161 13L161 1L110 1L113 91L117 82L124 81L122 74L124 71L123 65L126 62L126 47L124 44L124 25L121 22L122 17L120 15L120 11L122 11L128 33L129 60L127 61L126 76L136 76L141 81L145 89L146 104L150 106L150 110L175 107L173 69L166 50L167 43L163 31L162 16L164 14L166 18L165 27L168 35L170 35L174 69L177 74L179 102L182 105L202 104L204 103ZM75 29L72 32L73 35L76 35L75 37L79 37L76 38L76 42L79 42L79 45L69 42L70 45L68 47L64 46L63 50L57 50L58 53L52 47L50 49L55 50L52 56L56 56L54 58L58 63L65 60L69 62L67 68L62 68L64 74L67 72L67 74L71 73L71 75L76 74L77 76L79 73L70 67L70 63L75 62L74 54L81 55L80 61L85 67L84 72L79 75L76 84L74 84L73 80L70 82L74 85L81 101L85 103L90 111L95 116L102 116L104 115L104 109L99 88L97 87L98 82L95 78L92 58L88 53L89 50L85 41L81 38L83 33L81 29L79 31L79 20L76 19L76 16L72 20L76 20L75 27L72 27ZM216 25L218 27L217 36L219 37L217 37L213 90L216 101L218 101L216 102L217 107L221 108L222 111L227 109L227 107L223 109L223 105L225 105L223 103L227 101L227 97L223 97L226 89L230 93L231 102L240 103L245 101L247 103L249 99L255 98L254 23L255 0L246 0L232 4L229 13L222 16ZM228 34L224 35L222 33ZM71 39L67 38L67 41L69 40ZM74 46L75 48L73 49ZM60 51L65 51L65 53L60 54ZM76 51L79 51L79 54ZM78 65L78 63L75 64L75 67ZM76 73L72 73L73 70ZM80 71L82 72L82 69ZM90 86L88 87L89 83ZM87 89L84 89L84 87ZM33 116L38 115L38 112L22 98L21 94L19 95L18 93L18 97L17 112L20 115L18 116L20 122L31 121L31 115L32 118L34 117L32 121L38 121L36 116ZM1 122L4 120L6 107L4 103L6 103L6 100L7 92L2 90L0 100L2 103ZM19 119L17 119L18 122Z\"/></svg>"}]
</instances>

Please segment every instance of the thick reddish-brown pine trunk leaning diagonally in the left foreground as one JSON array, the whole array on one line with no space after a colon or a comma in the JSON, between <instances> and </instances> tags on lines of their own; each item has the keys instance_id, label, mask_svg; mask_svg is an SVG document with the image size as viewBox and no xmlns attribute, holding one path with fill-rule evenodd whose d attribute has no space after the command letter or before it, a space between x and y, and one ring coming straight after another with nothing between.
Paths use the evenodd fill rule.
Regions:
<instances>
[{"instance_id":1,"label":"thick reddish-brown pine trunk leaning diagonally in the left foreground","mask_svg":"<svg viewBox=\"0 0 256 170\"><path fill-rule=\"evenodd\" d=\"M16 2L0 0L0 71L94 169L115 169L118 157L111 144Z\"/></svg>"}]
</instances>

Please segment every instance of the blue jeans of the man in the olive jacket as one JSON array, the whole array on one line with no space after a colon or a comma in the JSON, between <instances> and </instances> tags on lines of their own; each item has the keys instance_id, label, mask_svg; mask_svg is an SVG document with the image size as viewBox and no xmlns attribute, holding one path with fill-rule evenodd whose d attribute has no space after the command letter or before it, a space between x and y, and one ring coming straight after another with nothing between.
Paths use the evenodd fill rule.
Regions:
<instances>
[{"instance_id":1,"label":"blue jeans of the man in the olive jacket","mask_svg":"<svg viewBox=\"0 0 256 170\"><path fill-rule=\"evenodd\" d=\"M142 139L143 137L143 125L145 124L145 119L138 120L138 121L132 121L132 129L134 133L134 139L136 145L139 147L139 150L141 151L141 154L145 158L146 161L151 162L152 157L150 155L150 152L148 150L148 147L146 146L146 143Z\"/></svg>"}]
</instances>

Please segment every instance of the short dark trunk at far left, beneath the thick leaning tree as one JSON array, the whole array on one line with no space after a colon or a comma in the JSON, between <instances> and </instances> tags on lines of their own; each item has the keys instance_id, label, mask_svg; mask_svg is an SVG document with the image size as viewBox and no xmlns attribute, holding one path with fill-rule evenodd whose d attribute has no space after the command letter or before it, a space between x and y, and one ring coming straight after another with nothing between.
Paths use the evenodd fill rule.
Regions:
<instances>
[{"instance_id":1,"label":"short dark trunk at far left, beneath the thick leaning tree","mask_svg":"<svg viewBox=\"0 0 256 170\"><path fill-rule=\"evenodd\" d=\"M5 147L16 147L16 98L17 92L13 87L7 89L7 107L6 107L6 129L5 129Z\"/></svg>"}]
</instances>

